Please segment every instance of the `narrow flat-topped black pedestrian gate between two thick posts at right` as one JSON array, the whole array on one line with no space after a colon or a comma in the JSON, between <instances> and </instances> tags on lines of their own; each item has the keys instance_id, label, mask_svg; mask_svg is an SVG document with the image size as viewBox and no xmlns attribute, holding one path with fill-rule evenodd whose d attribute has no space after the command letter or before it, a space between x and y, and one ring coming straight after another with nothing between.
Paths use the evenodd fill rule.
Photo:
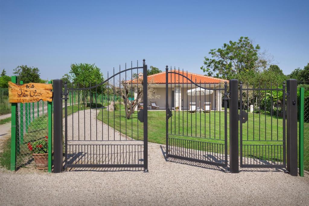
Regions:
<instances>
[{"instance_id":1,"label":"narrow flat-topped black pedestrian gate between two thick posts at right","mask_svg":"<svg viewBox=\"0 0 309 206\"><path fill-rule=\"evenodd\" d=\"M286 85L263 87L239 85L240 167L285 168Z\"/></svg>"}]
</instances>

